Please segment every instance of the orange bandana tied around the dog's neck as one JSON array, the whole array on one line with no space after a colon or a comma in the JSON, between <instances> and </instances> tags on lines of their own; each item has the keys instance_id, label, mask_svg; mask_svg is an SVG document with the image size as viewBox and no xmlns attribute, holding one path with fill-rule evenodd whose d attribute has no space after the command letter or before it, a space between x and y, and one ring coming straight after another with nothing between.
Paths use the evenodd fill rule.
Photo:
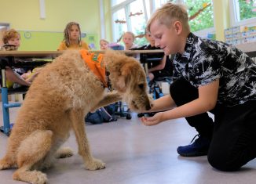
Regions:
<instances>
[{"instance_id":1,"label":"orange bandana tied around the dog's neck","mask_svg":"<svg viewBox=\"0 0 256 184\"><path fill-rule=\"evenodd\" d=\"M106 81L106 67L103 62L103 54L92 53L88 50L82 49L79 51L82 59L85 61L86 65L93 71L93 73L99 78L105 87L108 87Z\"/></svg>"}]
</instances>

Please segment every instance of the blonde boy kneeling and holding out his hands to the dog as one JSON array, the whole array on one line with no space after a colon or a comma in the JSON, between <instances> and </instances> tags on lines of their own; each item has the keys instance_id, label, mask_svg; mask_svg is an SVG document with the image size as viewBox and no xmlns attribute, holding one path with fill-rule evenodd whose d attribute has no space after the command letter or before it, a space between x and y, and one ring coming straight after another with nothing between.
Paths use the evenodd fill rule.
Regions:
<instances>
[{"instance_id":1,"label":"blonde boy kneeling and holding out his hands to the dog","mask_svg":"<svg viewBox=\"0 0 256 184\"><path fill-rule=\"evenodd\" d=\"M148 21L155 46L175 54L170 95L156 99L145 125L186 117L199 132L195 142L177 147L183 157L207 155L222 171L235 171L256 157L256 64L221 41L190 32L183 5L166 3ZM166 110L166 111L163 111ZM214 122L207 111L214 114ZM196 138L196 137L195 137ZM195 139L194 138L194 139ZM193 140L194 140L193 139Z\"/></svg>"}]
</instances>

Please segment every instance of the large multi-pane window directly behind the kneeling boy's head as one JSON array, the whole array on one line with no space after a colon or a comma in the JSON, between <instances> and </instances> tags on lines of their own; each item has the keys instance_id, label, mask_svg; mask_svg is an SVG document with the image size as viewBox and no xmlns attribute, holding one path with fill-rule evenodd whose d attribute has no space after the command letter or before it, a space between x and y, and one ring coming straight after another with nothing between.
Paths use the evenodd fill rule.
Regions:
<instances>
[{"instance_id":1,"label":"large multi-pane window directly behind the kneeling boy's head","mask_svg":"<svg viewBox=\"0 0 256 184\"><path fill-rule=\"evenodd\" d=\"M135 36L144 34L146 23L155 9L166 2L185 3L191 31L200 36L214 32L213 2L211 0L112 0L113 39L119 41L125 31ZM203 30L203 31L202 31ZM146 43L145 38L136 39L137 45Z\"/></svg>"}]
</instances>

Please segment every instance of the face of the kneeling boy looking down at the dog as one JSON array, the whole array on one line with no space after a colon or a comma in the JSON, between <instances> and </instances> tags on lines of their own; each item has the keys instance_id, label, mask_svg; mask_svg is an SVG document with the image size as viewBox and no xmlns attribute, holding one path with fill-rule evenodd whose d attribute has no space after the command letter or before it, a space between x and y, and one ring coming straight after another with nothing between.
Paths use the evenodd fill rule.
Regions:
<instances>
[{"instance_id":1,"label":"face of the kneeling boy looking down at the dog","mask_svg":"<svg viewBox=\"0 0 256 184\"><path fill-rule=\"evenodd\" d=\"M155 20L149 28L152 38L155 39L155 47L163 49L166 55L175 54L181 50L180 33L177 33L174 25L169 28Z\"/></svg>"}]
</instances>

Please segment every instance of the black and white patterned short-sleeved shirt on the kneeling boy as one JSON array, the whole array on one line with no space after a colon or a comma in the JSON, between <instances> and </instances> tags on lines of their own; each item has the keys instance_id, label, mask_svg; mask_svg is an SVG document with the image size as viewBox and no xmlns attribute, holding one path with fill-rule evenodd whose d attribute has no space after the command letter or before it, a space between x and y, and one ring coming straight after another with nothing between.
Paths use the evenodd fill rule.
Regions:
<instances>
[{"instance_id":1,"label":"black and white patterned short-sleeved shirt on the kneeling boy","mask_svg":"<svg viewBox=\"0 0 256 184\"><path fill-rule=\"evenodd\" d=\"M174 78L185 78L196 88L219 79L218 103L225 106L256 100L256 63L232 45L192 33L185 52L174 57Z\"/></svg>"}]
</instances>

